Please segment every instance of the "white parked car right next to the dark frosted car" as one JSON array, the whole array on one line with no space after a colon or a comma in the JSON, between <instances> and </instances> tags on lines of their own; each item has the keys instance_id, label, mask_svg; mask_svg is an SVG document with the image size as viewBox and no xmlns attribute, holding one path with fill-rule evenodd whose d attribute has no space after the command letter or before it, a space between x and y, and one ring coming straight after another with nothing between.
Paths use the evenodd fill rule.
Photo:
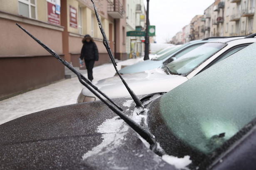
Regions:
<instances>
[{"instance_id":1,"label":"white parked car right next to the dark frosted car","mask_svg":"<svg viewBox=\"0 0 256 170\"><path fill-rule=\"evenodd\" d=\"M168 92L174 87L184 83L206 68L209 68L217 61L230 56L232 53L243 49L251 43L256 42L256 38L225 38L205 43L169 63L164 62L163 69L149 70L141 73L125 74L124 80L137 95L154 92ZM169 64L168 64L169 63ZM111 98L129 96L119 76L99 80L97 87ZM86 88L83 88L77 98L77 102L89 102L98 100Z\"/></svg>"}]
</instances>

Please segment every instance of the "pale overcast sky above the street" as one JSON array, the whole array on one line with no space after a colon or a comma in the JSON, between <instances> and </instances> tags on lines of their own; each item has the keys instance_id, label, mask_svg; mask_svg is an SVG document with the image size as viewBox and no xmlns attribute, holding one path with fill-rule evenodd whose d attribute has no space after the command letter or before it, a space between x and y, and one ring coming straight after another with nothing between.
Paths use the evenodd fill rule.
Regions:
<instances>
[{"instance_id":1,"label":"pale overcast sky above the street","mask_svg":"<svg viewBox=\"0 0 256 170\"><path fill-rule=\"evenodd\" d=\"M165 43L215 0L149 0L149 22L156 26L157 43ZM144 0L147 9L147 0Z\"/></svg>"}]
</instances>

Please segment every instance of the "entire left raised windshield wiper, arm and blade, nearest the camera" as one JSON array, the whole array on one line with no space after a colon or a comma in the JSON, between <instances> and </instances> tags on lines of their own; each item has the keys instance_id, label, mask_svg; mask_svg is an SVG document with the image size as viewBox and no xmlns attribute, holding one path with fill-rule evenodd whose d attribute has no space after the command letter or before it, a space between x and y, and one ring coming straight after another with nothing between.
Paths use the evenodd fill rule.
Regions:
<instances>
[{"instance_id":1,"label":"entire left raised windshield wiper, arm and blade, nearest the camera","mask_svg":"<svg viewBox=\"0 0 256 170\"><path fill-rule=\"evenodd\" d=\"M73 73L75 73L80 81L80 83L82 83L82 85L84 85L85 87L87 87L94 95L96 95L99 100L101 100L104 104L106 104L113 112L115 112L121 119L123 119L132 129L134 129L134 131L136 131L140 136L142 136L142 138L144 138L149 144L150 144L150 149L152 151L154 151L154 153L157 153L158 155L163 155L163 153L161 151L159 151L157 149L157 142L155 140L155 136L150 133L147 129L145 129L143 126L141 126L140 124L136 123L134 120L132 120L130 117L128 117L127 115L125 115L121 110L120 107L117 106L117 104L114 104L114 102L112 100L109 99L109 97L106 97L107 100L109 100L112 104L114 104L114 107L111 103L107 102L106 100L104 100L99 94L97 94L97 92L99 92L100 94L102 94L102 92L100 92L100 90L98 90L98 88L96 86L94 86L87 78L85 78L81 73L79 73L79 71L77 71L73 66L71 66L70 63L68 63L67 61L65 61L64 59L62 59L57 53L55 53L52 49L50 49L48 46L46 46L45 44L43 44L40 40L38 40L37 38L35 38L35 36L33 36L32 34L30 34L30 32L28 32L26 29L24 29L23 27L20 26L20 24L16 23L16 25L18 27L20 27L24 32L26 32L29 36L32 37L32 39L34 39L35 41L37 41L38 44L40 44L44 49L46 49L49 53L52 54L52 56L54 56L55 58L57 58L57 60L59 60L62 64L64 64L67 68L69 68ZM86 84L86 83L88 84ZM94 91L92 89L92 86L96 91ZM104 93L102 94L104 95ZM104 95L106 96L106 95ZM118 109L117 109L118 108Z\"/></svg>"}]
</instances>

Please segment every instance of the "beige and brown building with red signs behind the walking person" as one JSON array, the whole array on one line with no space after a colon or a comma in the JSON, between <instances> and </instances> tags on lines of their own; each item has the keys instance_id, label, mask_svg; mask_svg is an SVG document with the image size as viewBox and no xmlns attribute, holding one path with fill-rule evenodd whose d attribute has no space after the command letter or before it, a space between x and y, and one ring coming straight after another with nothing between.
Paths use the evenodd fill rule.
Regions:
<instances>
[{"instance_id":1,"label":"beige and brown building with red signs behind the walking person","mask_svg":"<svg viewBox=\"0 0 256 170\"><path fill-rule=\"evenodd\" d=\"M126 0L94 0L114 57L127 59ZM99 49L95 66L109 62L91 0L0 0L0 99L65 78L65 68L18 23L73 66L82 38Z\"/></svg>"}]
</instances>

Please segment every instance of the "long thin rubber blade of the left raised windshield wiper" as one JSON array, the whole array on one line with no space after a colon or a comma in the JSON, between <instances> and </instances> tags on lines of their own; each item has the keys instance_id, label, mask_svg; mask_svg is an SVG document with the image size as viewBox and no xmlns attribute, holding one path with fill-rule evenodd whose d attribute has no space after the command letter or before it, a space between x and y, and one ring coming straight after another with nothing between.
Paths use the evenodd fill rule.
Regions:
<instances>
[{"instance_id":1,"label":"long thin rubber blade of the left raised windshield wiper","mask_svg":"<svg viewBox=\"0 0 256 170\"><path fill-rule=\"evenodd\" d=\"M32 34L30 34L30 32L28 32L26 29L24 29L23 27L20 26L20 24L16 23L16 25L18 27L20 27L24 32L26 32L28 35L30 35L32 37L32 39L34 39L35 41L37 41L38 44L40 44L43 48L45 48L49 53L52 54L52 56L54 56L55 58L57 58L61 63L63 63L67 68L69 68L73 73L75 73L80 81L80 83L82 83L82 85L84 85L85 87L87 87L94 95L96 95L98 98L102 98L100 97L94 90L96 90L97 92L99 92L102 96L104 96L107 100L109 100L109 102L111 102L112 104L114 104L119 110L123 110L121 107L119 107L117 104L115 104L111 99L109 99L109 97L107 97L107 95L105 95L102 91L100 91L96 86L94 86L92 84L92 82L90 80L88 80L87 78L85 78L81 73L79 73L74 67L71 66L70 63L68 63L67 61L65 61L64 59L62 59L57 53L55 53L52 49L50 49L47 45L43 44L40 40L38 40L37 38L35 38L35 36L33 36ZM87 84L86 84L86 83ZM93 89L94 90L93 90Z\"/></svg>"}]
</instances>

